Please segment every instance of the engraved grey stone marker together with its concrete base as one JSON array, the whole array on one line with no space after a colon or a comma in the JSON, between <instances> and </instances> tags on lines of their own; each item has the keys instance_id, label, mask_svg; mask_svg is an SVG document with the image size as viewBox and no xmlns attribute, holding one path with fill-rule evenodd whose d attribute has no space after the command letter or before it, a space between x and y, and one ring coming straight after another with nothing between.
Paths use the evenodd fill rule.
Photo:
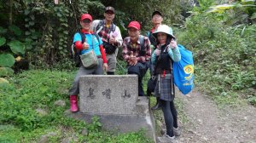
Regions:
<instances>
[{"instance_id":1,"label":"engraved grey stone marker together with its concrete base","mask_svg":"<svg viewBox=\"0 0 256 143\"><path fill-rule=\"evenodd\" d=\"M154 118L147 97L138 97L137 75L86 75L79 82L79 112L74 118L100 117L103 129L131 132L145 129L155 141Z\"/></svg>"}]
</instances>

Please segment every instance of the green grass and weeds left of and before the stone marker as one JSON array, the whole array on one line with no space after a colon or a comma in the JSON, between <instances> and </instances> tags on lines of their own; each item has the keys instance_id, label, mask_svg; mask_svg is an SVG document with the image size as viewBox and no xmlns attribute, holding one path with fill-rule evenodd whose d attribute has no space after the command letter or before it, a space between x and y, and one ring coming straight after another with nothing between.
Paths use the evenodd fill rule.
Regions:
<instances>
[{"instance_id":1,"label":"green grass and weeds left of and before the stone marker","mask_svg":"<svg viewBox=\"0 0 256 143\"><path fill-rule=\"evenodd\" d=\"M75 72L31 70L8 77L0 84L0 142L38 142L49 132L49 142L153 142L144 131L116 134L101 129L99 122L85 123L66 117L67 92ZM56 106L63 100L66 106ZM41 109L46 113L37 112ZM87 130L88 134L83 131Z\"/></svg>"}]
</instances>

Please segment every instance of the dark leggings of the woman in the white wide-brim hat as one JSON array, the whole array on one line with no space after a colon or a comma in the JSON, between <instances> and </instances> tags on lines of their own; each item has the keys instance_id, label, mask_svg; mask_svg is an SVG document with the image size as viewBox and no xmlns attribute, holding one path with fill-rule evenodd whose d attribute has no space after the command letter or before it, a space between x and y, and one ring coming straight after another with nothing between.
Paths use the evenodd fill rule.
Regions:
<instances>
[{"instance_id":1,"label":"dark leggings of the woman in the white wide-brim hat","mask_svg":"<svg viewBox=\"0 0 256 143\"><path fill-rule=\"evenodd\" d=\"M173 101L160 100L166 122L166 134L173 136L173 127L177 128L177 110Z\"/></svg>"}]
</instances>

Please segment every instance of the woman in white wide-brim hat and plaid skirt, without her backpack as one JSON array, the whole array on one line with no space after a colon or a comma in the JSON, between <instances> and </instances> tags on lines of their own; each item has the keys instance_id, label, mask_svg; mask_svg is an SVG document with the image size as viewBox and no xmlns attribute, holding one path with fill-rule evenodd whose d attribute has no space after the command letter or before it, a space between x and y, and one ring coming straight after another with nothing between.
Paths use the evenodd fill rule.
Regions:
<instances>
[{"instance_id":1,"label":"woman in white wide-brim hat and plaid skirt, without her backpack","mask_svg":"<svg viewBox=\"0 0 256 143\"><path fill-rule=\"evenodd\" d=\"M153 33L156 37L157 49L151 56L154 75L157 77L154 96L160 99L160 106L166 123L166 134L157 139L160 142L175 142L180 135L177 125L177 110L174 105L175 88L173 82L172 63L181 60L177 42L169 26L160 25Z\"/></svg>"}]
</instances>

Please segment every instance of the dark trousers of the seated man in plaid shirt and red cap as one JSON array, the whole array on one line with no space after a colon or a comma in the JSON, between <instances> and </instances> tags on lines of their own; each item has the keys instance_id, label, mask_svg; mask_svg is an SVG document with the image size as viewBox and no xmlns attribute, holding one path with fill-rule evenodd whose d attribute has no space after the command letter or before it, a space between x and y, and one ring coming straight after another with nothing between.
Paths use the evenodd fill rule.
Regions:
<instances>
[{"instance_id":1,"label":"dark trousers of the seated man in plaid shirt and red cap","mask_svg":"<svg viewBox=\"0 0 256 143\"><path fill-rule=\"evenodd\" d=\"M147 61L149 62L149 61ZM148 64L147 63L140 63L138 62L135 66L128 66L128 74L137 74L138 77L138 95L144 96L143 91L143 77L145 76L146 72L148 71Z\"/></svg>"}]
</instances>

